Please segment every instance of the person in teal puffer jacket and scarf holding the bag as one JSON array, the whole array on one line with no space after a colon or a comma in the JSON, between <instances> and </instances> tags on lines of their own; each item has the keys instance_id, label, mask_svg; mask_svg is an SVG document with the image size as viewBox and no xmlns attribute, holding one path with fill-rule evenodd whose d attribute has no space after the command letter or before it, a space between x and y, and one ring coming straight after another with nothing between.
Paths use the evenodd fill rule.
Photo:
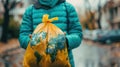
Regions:
<instances>
[{"instance_id":1,"label":"person in teal puffer jacket and scarf holding the bag","mask_svg":"<svg viewBox=\"0 0 120 67\"><path fill-rule=\"evenodd\" d=\"M75 67L72 49L78 47L82 41L82 28L75 8L66 0L37 0L27 8L20 26L20 46L27 48L29 34L42 22L44 14L48 14L49 18L59 18L52 23L66 33L69 61L71 67Z\"/></svg>"}]
</instances>

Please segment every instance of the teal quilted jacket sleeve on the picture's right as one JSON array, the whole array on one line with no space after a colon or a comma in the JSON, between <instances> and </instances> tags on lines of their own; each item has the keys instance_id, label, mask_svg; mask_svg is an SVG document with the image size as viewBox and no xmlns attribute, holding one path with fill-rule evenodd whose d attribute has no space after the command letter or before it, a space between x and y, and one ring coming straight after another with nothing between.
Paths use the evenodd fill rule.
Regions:
<instances>
[{"instance_id":1,"label":"teal quilted jacket sleeve on the picture's right","mask_svg":"<svg viewBox=\"0 0 120 67\"><path fill-rule=\"evenodd\" d=\"M77 12L75 11L74 7L68 3L67 9L68 9L69 28L68 28L68 35L66 35L66 37L67 37L68 49L71 50L80 45L82 41L82 28L77 16Z\"/></svg>"}]
</instances>

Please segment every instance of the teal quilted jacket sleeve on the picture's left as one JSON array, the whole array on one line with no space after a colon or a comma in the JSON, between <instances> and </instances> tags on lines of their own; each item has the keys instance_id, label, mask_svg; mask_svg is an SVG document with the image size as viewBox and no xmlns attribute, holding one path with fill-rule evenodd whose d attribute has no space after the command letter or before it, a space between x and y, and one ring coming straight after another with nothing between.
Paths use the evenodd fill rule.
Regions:
<instances>
[{"instance_id":1,"label":"teal quilted jacket sleeve on the picture's left","mask_svg":"<svg viewBox=\"0 0 120 67\"><path fill-rule=\"evenodd\" d=\"M22 19L22 24L20 26L20 33L19 33L19 42L20 46L24 49L27 48L28 42L30 40L29 34L32 34L33 28L32 28L32 6L29 6Z\"/></svg>"}]
</instances>

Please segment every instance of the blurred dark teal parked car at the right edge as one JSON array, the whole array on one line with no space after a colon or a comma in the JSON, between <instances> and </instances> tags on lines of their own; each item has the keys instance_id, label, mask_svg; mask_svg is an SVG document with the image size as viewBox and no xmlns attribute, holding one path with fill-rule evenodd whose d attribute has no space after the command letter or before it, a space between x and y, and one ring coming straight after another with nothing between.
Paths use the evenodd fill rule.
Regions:
<instances>
[{"instance_id":1,"label":"blurred dark teal parked car at the right edge","mask_svg":"<svg viewBox=\"0 0 120 67\"><path fill-rule=\"evenodd\" d=\"M98 35L98 38L96 38L94 41L111 44L113 42L119 42L120 41L120 30L111 30L108 31L106 34Z\"/></svg>"}]
</instances>

